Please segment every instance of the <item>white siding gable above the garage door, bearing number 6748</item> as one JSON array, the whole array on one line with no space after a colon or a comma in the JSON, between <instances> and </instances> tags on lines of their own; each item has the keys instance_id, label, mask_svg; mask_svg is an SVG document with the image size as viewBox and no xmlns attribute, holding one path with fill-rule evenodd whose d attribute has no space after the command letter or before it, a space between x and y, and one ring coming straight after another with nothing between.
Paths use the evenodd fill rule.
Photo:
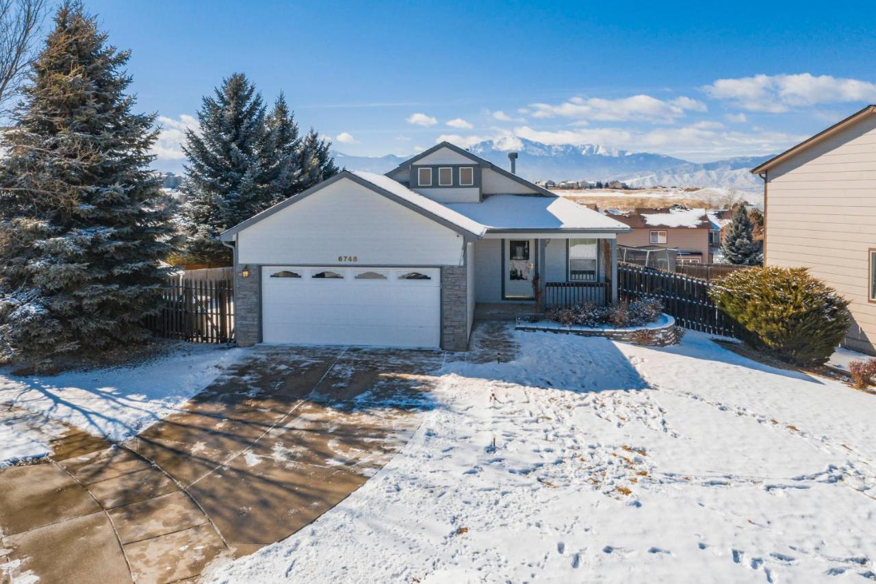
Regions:
<instances>
[{"instance_id":1,"label":"white siding gable above the garage door, bearing number 6748","mask_svg":"<svg viewBox=\"0 0 876 584\"><path fill-rule=\"evenodd\" d=\"M463 237L349 180L341 180L237 234L242 264L461 266Z\"/></svg>"}]
</instances>

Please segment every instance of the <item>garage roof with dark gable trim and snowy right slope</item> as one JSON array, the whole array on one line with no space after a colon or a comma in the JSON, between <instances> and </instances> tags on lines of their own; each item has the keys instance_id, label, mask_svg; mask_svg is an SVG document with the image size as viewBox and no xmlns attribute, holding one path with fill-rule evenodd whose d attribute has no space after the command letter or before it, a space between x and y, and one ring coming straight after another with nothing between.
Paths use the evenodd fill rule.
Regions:
<instances>
[{"instance_id":1,"label":"garage roof with dark gable trim and snowy right slope","mask_svg":"<svg viewBox=\"0 0 876 584\"><path fill-rule=\"evenodd\" d=\"M422 196L419 193L415 193L411 189L407 189L404 185L400 184L399 182L393 181L391 178L386 177L383 174L366 172L351 173L348 170L343 170L328 179L327 181L323 181L318 185L307 189L302 193L299 193L298 195L290 196L285 201L281 201L280 203L277 203L272 207L263 210L261 213L258 213L258 215L250 217L243 223L237 224L227 231L223 231L223 233L219 235L219 239L223 239L224 241L231 241L234 239L233 236L236 233L243 231L247 227L250 227L252 224L256 224L265 217L270 217L277 211L286 209L286 207L288 207L289 205L298 203L300 200L307 198L307 196L313 195L321 189L325 189L330 184L333 184L343 179L348 179L352 182L356 182L366 189L371 189L375 193L383 195L396 203L402 204L408 209L420 213L420 215L424 217L433 219L437 223L443 224L444 226L449 227L456 232L462 233L463 235L480 238L484 235L484 231L486 231L484 225L472 221L469 217L465 217L457 213L455 210L451 210L445 205L442 205L441 203L434 202L427 196Z\"/></svg>"}]
</instances>

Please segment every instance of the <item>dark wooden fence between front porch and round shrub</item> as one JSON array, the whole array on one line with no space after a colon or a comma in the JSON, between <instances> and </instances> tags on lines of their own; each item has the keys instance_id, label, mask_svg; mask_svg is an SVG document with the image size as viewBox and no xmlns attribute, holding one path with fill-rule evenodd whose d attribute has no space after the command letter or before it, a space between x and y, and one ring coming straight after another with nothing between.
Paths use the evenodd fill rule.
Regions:
<instances>
[{"instance_id":1,"label":"dark wooden fence between front porch and round shrub","mask_svg":"<svg viewBox=\"0 0 876 584\"><path fill-rule=\"evenodd\" d=\"M630 302L642 296L658 298L663 311L675 317L686 329L712 335L741 338L741 327L717 310L709 297L715 285L682 274L661 272L648 267L618 263L618 296Z\"/></svg>"}]
</instances>

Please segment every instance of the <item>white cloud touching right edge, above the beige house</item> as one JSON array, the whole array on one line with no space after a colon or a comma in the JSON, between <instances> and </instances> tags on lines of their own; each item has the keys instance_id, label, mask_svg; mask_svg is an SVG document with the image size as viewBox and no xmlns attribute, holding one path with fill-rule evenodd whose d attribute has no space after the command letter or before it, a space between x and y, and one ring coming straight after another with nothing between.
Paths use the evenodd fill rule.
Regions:
<instances>
[{"instance_id":1,"label":"white cloud touching right edge, above the beige house","mask_svg":"<svg viewBox=\"0 0 876 584\"><path fill-rule=\"evenodd\" d=\"M876 102L874 83L810 73L718 79L703 90L743 110L770 113L818 103Z\"/></svg>"}]
</instances>

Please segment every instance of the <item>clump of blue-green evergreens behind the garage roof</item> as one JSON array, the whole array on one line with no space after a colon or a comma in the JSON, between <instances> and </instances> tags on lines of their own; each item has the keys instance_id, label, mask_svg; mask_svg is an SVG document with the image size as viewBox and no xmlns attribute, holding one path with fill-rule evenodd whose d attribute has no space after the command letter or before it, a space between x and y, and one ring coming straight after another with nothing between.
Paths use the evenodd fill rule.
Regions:
<instances>
[{"instance_id":1,"label":"clump of blue-green evergreens behind the garage roof","mask_svg":"<svg viewBox=\"0 0 876 584\"><path fill-rule=\"evenodd\" d=\"M215 238L275 203L337 174L331 144L301 136L280 94L270 113L243 74L231 75L198 112L201 135L187 132L187 259L228 264Z\"/></svg>"}]
</instances>

